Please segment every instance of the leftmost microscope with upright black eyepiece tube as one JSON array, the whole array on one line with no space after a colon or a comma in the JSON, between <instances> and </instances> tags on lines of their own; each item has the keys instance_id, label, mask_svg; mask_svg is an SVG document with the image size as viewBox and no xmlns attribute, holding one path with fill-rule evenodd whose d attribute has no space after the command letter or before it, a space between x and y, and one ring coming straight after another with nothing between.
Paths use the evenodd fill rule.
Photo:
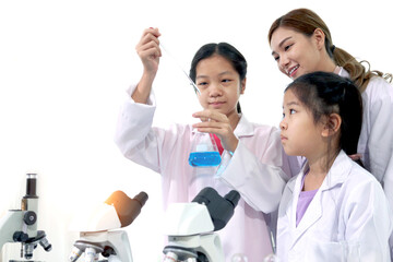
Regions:
<instances>
[{"instance_id":1,"label":"leftmost microscope with upright black eyepiece tube","mask_svg":"<svg viewBox=\"0 0 393 262\"><path fill-rule=\"evenodd\" d=\"M33 259L33 251L39 243L45 251L51 245L43 230L37 230L38 196L36 194L37 175L26 175L26 195L22 199L21 210L10 210L0 219L0 250L7 242L21 242L21 258ZM13 262L17 262L14 261Z\"/></svg>"}]
</instances>

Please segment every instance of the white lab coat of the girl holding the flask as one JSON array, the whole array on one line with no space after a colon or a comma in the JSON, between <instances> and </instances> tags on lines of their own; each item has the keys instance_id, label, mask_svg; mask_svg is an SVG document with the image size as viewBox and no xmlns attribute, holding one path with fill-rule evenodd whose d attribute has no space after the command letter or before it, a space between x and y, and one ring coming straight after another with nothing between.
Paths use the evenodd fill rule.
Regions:
<instances>
[{"instance_id":1,"label":"white lab coat of the girl holding the flask","mask_svg":"<svg viewBox=\"0 0 393 262\"><path fill-rule=\"evenodd\" d=\"M131 88L130 94L132 92ZM206 186L222 195L231 189L238 190L241 199L235 214L218 231L226 261L236 253L246 254L249 262L261 261L272 248L264 214L260 211L277 210L286 178L291 176L287 168L288 176L281 169L288 166L287 158L283 157L279 131L250 123L241 116L234 131L239 144L228 166L219 176L214 176L215 170L206 176L195 174L198 168L188 164L194 135L192 127L153 128L154 111L153 94L147 105L134 103L130 97L123 104L115 138L122 154L162 175L164 209L169 203L190 202Z\"/></svg>"}]
</instances>

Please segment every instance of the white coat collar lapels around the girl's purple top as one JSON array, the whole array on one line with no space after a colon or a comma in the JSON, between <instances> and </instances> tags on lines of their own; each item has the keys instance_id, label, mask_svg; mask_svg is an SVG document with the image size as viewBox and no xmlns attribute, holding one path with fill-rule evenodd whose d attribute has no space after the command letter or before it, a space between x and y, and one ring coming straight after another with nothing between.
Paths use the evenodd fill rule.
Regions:
<instances>
[{"instance_id":1,"label":"white coat collar lapels around the girl's purple top","mask_svg":"<svg viewBox=\"0 0 393 262\"><path fill-rule=\"evenodd\" d=\"M299 200L299 194L301 191L301 179L305 176L305 172L309 168L308 164L303 166L301 172L296 177L296 179L288 182L288 189L293 192L293 200L288 202L286 206L286 215L290 218L289 226L293 233L291 247L296 245L298 239L310 228L315 222L318 222L323 214L322 198L321 194L331 190L337 186L341 186L349 175L352 168L352 159L341 151L334 160L331 169L329 170L325 179L322 182L321 188L315 193L313 200L311 201L309 207L307 209L303 217L301 218L299 225L296 227L296 211Z\"/></svg>"}]
</instances>

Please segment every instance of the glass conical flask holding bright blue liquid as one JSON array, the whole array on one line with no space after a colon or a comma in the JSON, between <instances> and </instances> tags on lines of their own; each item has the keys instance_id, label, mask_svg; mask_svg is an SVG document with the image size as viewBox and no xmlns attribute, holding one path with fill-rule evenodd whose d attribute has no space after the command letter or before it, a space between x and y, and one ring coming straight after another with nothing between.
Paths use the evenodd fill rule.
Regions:
<instances>
[{"instance_id":1,"label":"glass conical flask holding bright blue liquid","mask_svg":"<svg viewBox=\"0 0 393 262\"><path fill-rule=\"evenodd\" d=\"M213 134L195 131L192 141L189 164L192 167L218 166L221 155Z\"/></svg>"}]
</instances>

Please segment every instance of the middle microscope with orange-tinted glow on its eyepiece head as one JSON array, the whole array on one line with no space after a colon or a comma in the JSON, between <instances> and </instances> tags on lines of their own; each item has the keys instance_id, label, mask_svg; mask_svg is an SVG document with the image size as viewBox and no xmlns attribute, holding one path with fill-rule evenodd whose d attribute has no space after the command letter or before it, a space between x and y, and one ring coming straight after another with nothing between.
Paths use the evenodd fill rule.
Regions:
<instances>
[{"instance_id":1,"label":"middle microscope with orange-tinted glow on its eyepiece head","mask_svg":"<svg viewBox=\"0 0 393 262\"><path fill-rule=\"evenodd\" d=\"M75 262L84 253L84 262L132 262L127 233L112 229L130 225L147 198L145 192L130 199L124 192L116 191L90 214L81 214L70 226L80 233L80 239L74 242L69 261ZM102 257L105 259L99 260Z\"/></svg>"}]
</instances>

